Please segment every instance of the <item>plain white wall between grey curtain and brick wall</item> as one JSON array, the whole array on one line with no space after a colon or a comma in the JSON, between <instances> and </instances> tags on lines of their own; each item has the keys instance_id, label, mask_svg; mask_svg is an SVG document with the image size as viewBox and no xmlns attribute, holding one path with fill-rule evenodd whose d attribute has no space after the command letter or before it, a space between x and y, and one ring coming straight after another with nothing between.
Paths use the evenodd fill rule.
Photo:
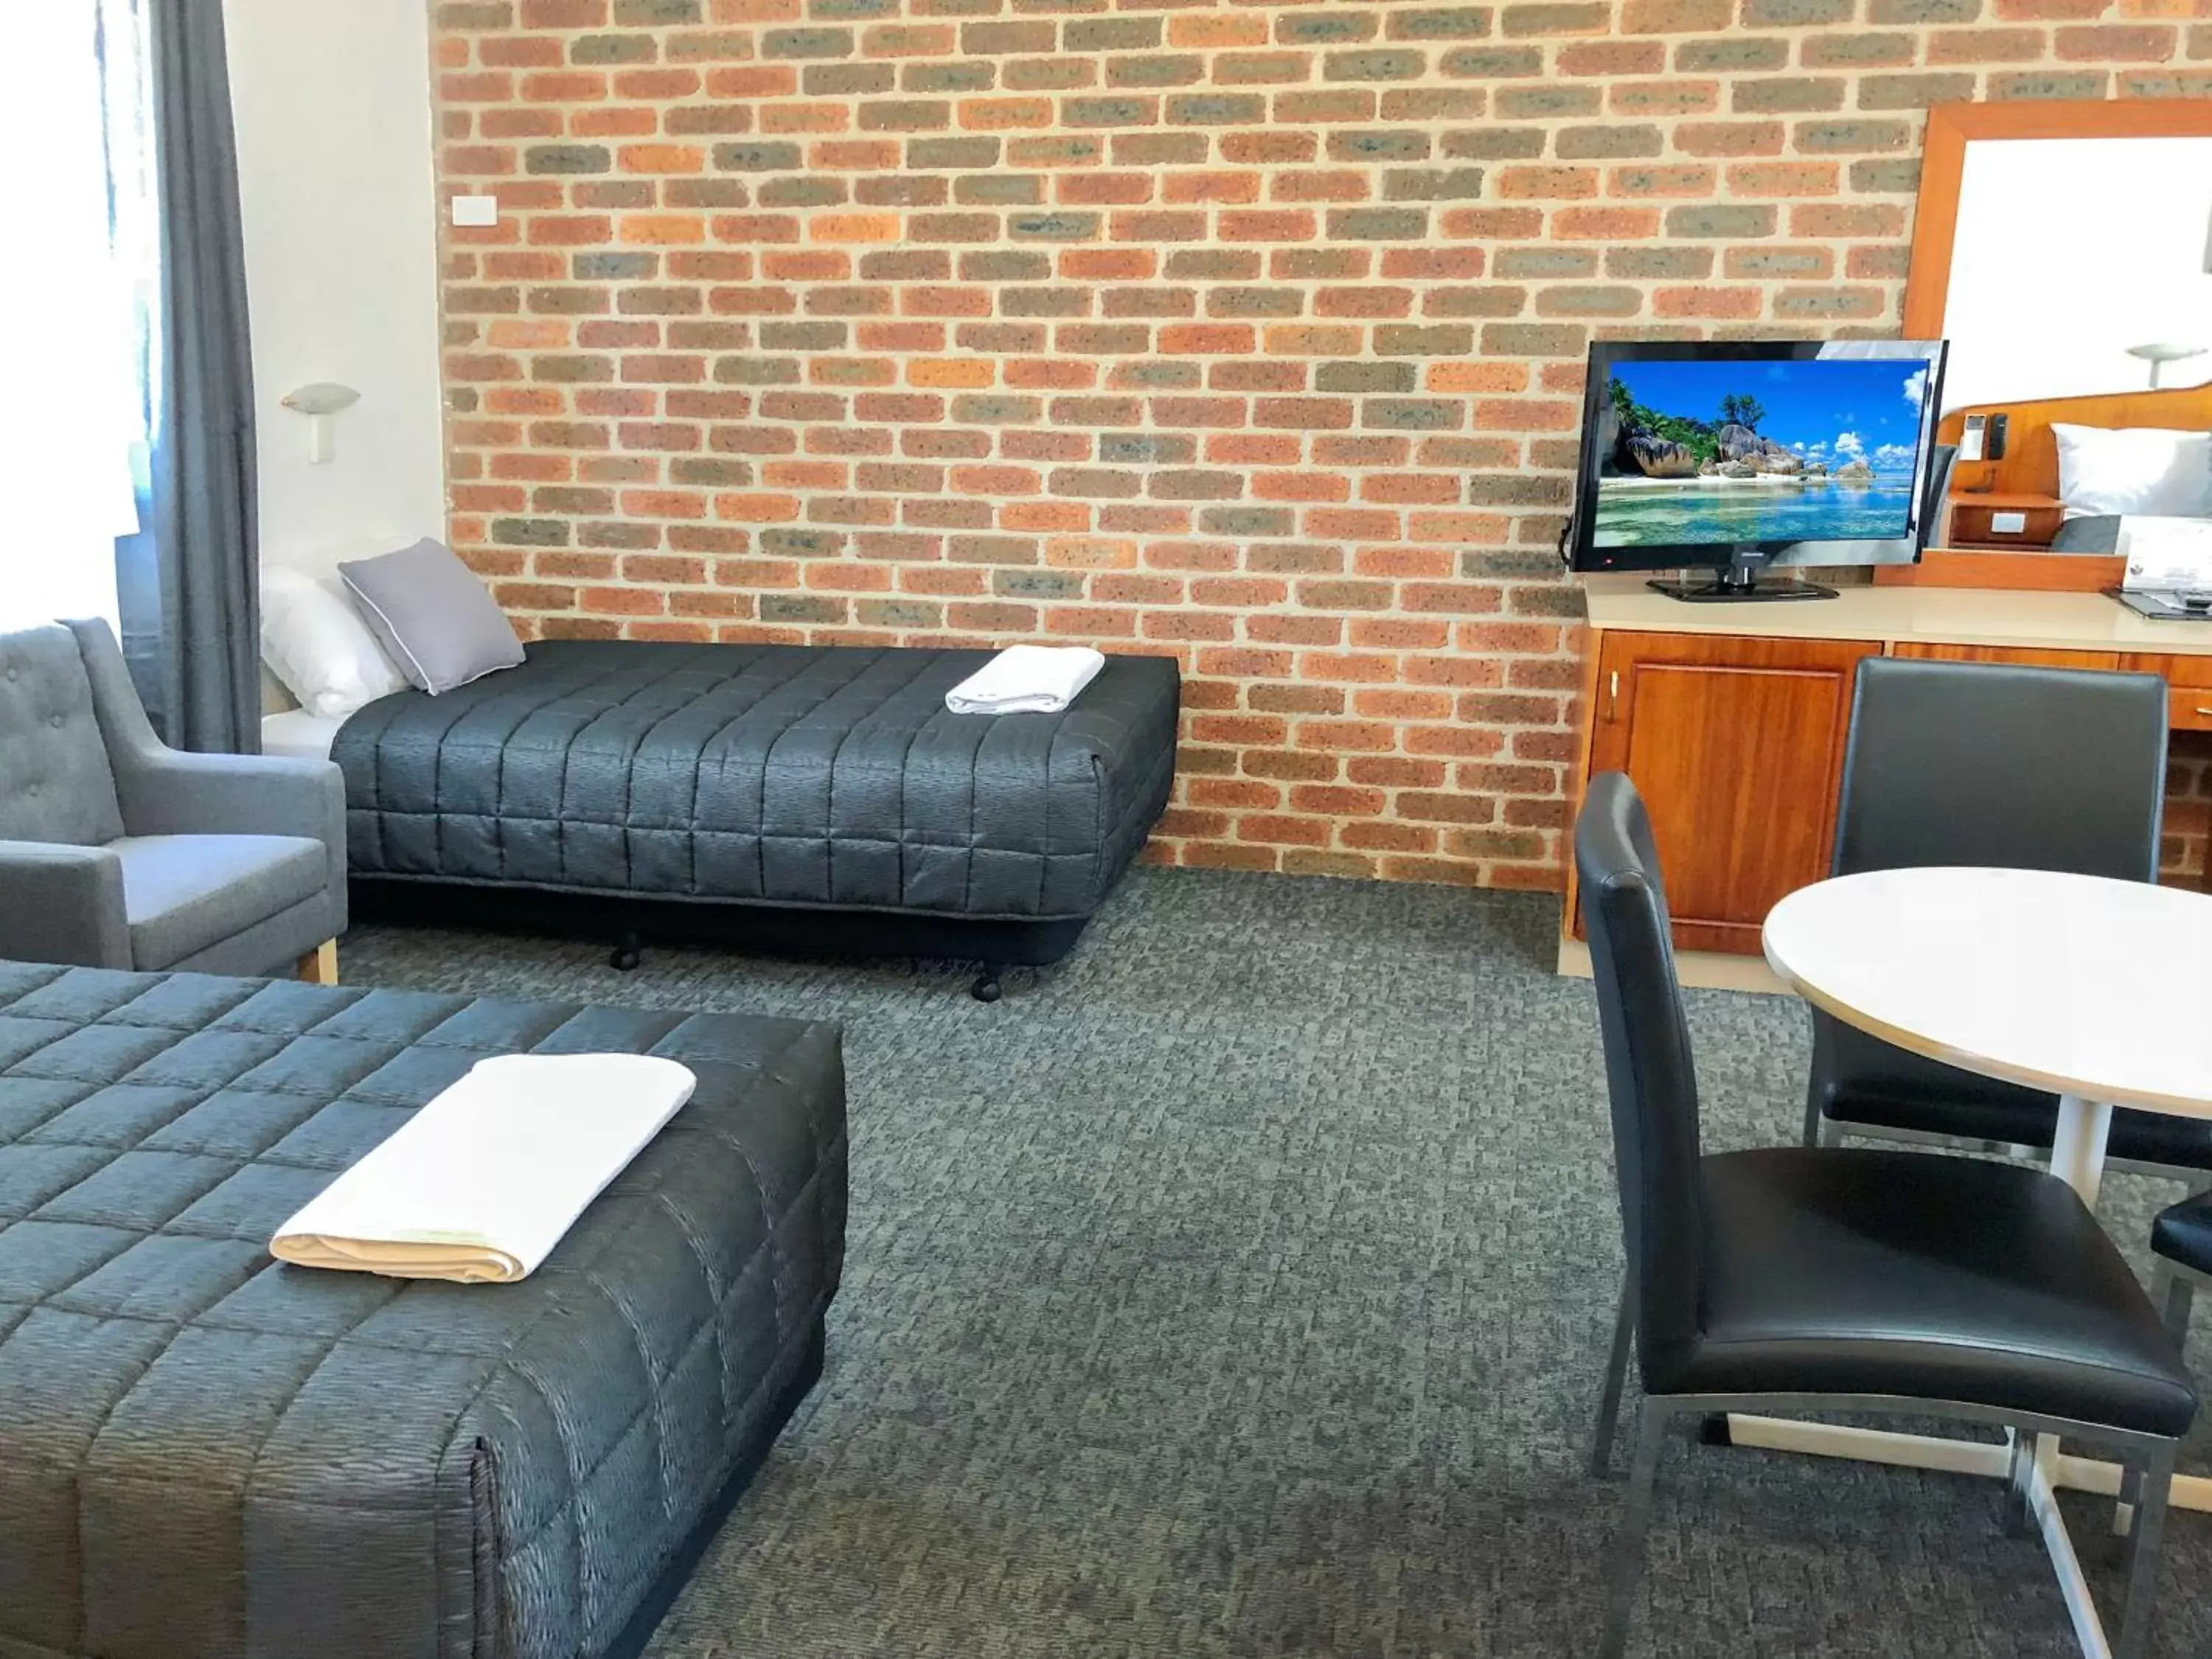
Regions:
<instances>
[{"instance_id":1,"label":"plain white wall between grey curtain and brick wall","mask_svg":"<svg viewBox=\"0 0 2212 1659\"><path fill-rule=\"evenodd\" d=\"M438 199L422 0L223 0L246 210L261 557L445 535ZM343 380L334 456L279 398Z\"/></svg>"}]
</instances>

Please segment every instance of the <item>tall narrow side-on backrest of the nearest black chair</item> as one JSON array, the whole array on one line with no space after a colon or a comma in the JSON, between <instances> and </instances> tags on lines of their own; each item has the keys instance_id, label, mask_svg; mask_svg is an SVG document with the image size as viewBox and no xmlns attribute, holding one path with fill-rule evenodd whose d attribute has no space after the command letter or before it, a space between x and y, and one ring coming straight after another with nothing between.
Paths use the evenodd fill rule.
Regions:
<instances>
[{"instance_id":1,"label":"tall narrow side-on backrest of the nearest black chair","mask_svg":"<svg viewBox=\"0 0 2212 1659\"><path fill-rule=\"evenodd\" d=\"M1697 1343L1703 1217L1697 1066L1674 978L1666 887L1650 818L1624 772L1590 779L1575 821L1575 872L1597 978L1597 1026L1613 1097L1613 1166L1637 1294L1637 1352Z\"/></svg>"}]
</instances>

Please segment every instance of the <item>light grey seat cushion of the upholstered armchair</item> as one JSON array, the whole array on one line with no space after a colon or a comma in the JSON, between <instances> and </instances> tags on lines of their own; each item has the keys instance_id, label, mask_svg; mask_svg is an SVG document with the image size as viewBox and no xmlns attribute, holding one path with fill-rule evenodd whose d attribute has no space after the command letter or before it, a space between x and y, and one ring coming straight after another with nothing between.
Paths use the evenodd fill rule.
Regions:
<instances>
[{"instance_id":1,"label":"light grey seat cushion of the upholstered armchair","mask_svg":"<svg viewBox=\"0 0 2212 1659\"><path fill-rule=\"evenodd\" d=\"M330 858L307 836L124 836L124 922L139 971L184 962L323 891Z\"/></svg>"}]
</instances>

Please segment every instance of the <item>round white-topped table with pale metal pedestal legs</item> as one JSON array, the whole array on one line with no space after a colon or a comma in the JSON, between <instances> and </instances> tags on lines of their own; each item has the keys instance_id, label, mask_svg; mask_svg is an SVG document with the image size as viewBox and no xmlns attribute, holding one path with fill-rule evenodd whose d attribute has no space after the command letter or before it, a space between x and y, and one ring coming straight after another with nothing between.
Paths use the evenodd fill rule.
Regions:
<instances>
[{"instance_id":1,"label":"round white-topped table with pale metal pedestal legs","mask_svg":"<svg viewBox=\"0 0 2212 1659\"><path fill-rule=\"evenodd\" d=\"M1878 869L1790 894L1765 925L1774 973L1816 1009L1989 1077L2059 1095L2051 1170L2097 1203L2112 1106L2212 1117L2212 896L2037 869ZM1778 1451L2004 1478L2006 1447L1730 1418ZM2119 1493L2119 1469L2037 1440L2031 1506L2081 1652L2108 1644L2055 1489ZM2212 1480L2174 1480L2212 1509Z\"/></svg>"}]
</instances>

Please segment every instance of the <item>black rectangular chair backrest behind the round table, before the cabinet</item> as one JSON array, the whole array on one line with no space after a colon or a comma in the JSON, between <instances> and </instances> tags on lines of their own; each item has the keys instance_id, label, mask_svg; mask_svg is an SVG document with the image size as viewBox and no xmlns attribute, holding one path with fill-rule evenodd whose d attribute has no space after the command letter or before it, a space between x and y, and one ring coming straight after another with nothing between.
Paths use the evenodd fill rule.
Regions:
<instances>
[{"instance_id":1,"label":"black rectangular chair backrest behind the round table, before the cabinet","mask_svg":"<svg viewBox=\"0 0 2212 1659\"><path fill-rule=\"evenodd\" d=\"M2166 681L1874 657L1832 872L2004 865L2157 880Z\"/></svg>"}]
</instances>

